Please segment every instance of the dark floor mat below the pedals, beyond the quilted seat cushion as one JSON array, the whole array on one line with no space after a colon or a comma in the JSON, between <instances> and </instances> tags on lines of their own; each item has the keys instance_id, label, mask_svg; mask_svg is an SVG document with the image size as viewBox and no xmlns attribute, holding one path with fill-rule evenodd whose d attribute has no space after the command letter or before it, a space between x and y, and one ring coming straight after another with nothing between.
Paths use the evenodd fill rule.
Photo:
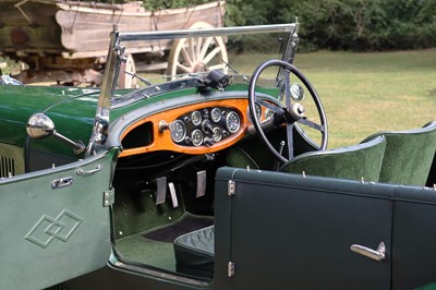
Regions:
<instances>
[{"instance_id":1,"label":"dark floor mat below the pedals, beyond the quilted seat cushion","mask_svg":"<svg viewBox=\"0 0 436 290\"><path fill-rule=\"evenodd\" d=\"M211 225L214 225L213 218L186 215L180 221L165 228L144 233L143 237L155 241L172 243L175 238L184 233L199 230Z\"/></svg>"}]
</instances>

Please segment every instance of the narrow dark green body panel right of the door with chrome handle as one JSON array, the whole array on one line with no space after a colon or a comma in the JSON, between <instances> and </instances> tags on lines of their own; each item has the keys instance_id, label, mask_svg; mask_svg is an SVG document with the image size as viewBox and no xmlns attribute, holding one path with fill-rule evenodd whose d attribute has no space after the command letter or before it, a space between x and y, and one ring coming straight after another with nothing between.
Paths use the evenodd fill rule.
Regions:
<instances>
[{"instance_id":1,"label":"narrow dark green body panel right of the door with chrome handle","mask_svg":"<svg viewBox=\"0 0 436 290\"><path fill-rule=\"evenodd\" d=\"M392 230L392 289L436 289L435 225L435 190L398 186Z\"/></svg>"}]
</instances>

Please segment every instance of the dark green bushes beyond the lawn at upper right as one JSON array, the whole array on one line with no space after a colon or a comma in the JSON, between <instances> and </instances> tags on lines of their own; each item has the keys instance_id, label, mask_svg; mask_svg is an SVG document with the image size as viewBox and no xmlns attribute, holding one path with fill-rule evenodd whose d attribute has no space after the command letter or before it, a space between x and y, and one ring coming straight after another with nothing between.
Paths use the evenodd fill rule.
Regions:
<instances>
[{"instance_id":1,"label":"dark green bushes beyond the lawn at upper right","mask_svg":"<svg viewBox=\"0 0 436 290\"><path fill-rule=\"evenodd\" d=\"M288 23L298 16L306 50L436 46L434 0L229 0L227 7L228 24Z\"/></svg>"}]
</instances>

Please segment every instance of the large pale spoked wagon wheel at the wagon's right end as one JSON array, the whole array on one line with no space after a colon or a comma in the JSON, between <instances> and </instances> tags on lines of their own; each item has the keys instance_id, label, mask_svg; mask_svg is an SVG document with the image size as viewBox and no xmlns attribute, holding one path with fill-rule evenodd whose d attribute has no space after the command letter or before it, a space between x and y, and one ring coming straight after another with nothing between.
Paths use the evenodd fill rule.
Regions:
<instances>
[{"instance_id":1,"label":"large pale spoked wagon wheel at the wagon's right end","mask_svg":"<svg viewBox=\"0 0 436 290\"><path fill-rule=\"evenodd\" d=\"M196 22L190 29L214 28L206 22ZM177 39L168 58L167 75L222 70L227 73L229 59L221 36Z\"/></svg>"}]
</instances>

